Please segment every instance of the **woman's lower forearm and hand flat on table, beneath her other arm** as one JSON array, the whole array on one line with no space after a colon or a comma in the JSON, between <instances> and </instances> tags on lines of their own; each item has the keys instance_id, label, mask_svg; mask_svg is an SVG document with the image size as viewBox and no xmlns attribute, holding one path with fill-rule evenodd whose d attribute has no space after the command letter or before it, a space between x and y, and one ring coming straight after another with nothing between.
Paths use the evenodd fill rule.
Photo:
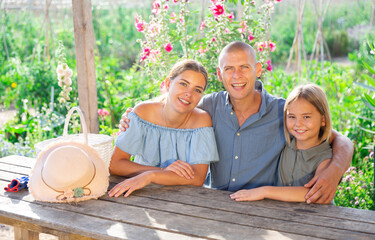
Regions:
<instances>
[{"instance_id":1,"label":"woman's lower forearm and hand flat on table, beneath her other arm","mask_svg":"<svg viewBox=\"0 0 375 240\"><path fill-rule=\"evenodd\" d=\"M118 197L125 193L125 197L129 196L137 189L141 189L150 183L161 185L194 185L202 186L208 170L208 164L195 164L191 166L194 170L194 177L187 179L177 175L175 172L168 170L151 170L146 171L138 176L126 179L109 191L110 197Z\"/></svg>"}]
</instances>

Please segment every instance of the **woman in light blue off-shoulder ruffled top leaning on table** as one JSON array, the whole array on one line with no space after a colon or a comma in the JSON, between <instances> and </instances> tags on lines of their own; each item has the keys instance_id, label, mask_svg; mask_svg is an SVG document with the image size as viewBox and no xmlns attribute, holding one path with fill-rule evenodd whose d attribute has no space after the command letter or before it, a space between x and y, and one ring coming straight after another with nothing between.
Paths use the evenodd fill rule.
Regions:
<instances>
[{"instance_id":1,"label":"woman in light blue off-shoulder ruffled top leaning on table","mask_svg":"<svg viewBox=\"0 0 375 240\"><path fill-rule=\"evenodd\" d=\"M110 172L131 178L112 188L110 197L127 197L150 183L203 185L209 163L219 159L211 117L196 108L206 86L204 67L181 61L165 80L167 95L128 114L129 128L116 139Z\"/></svg>"}]
</instances>

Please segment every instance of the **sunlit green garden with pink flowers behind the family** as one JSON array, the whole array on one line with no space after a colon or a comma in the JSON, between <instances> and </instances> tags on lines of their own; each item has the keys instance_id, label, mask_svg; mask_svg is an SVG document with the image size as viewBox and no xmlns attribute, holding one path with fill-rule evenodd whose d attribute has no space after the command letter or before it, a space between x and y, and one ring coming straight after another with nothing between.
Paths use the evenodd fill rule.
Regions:
<instances>
[{"instance_id":1,"label":"sunlit green garden with pink flowers behind the family","mask_svg":"<svg viewBox=\"0 0 375 240\"><path fill-rule=\"evenodd\" d=\"M271 94L286 97L306 81L326 90L334 129L355 145L336 205L374 210L374 0L91 2L100 133L116 136L121 114L159 95L181 57L207 67L206 93L223 90L217 56L228 42L245 41ZM0 110L16 112L1 125L0 157L35 157L34 145L62 135L68 109L78 105L71 1L0 5Z\"/></svg>"}]
</instances>

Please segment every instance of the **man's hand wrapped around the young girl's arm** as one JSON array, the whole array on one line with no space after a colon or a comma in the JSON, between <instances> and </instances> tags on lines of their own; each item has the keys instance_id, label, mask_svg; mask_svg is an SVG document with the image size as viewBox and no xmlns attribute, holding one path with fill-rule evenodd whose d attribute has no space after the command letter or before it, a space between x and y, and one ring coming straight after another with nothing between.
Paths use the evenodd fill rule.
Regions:
<instances>
[{"instance_id":1,"label":"man's hand wrapped around the young girl's arm","mask_svg":"<svg viewBox=\"0 0 375 240\"><path fill-rule=\"evenodd\" d=\"M305 196L307 203L327 204L335 197L341 175L334 164L316 173L304 187L311 188Z\"/></svg>"}]
</instances>

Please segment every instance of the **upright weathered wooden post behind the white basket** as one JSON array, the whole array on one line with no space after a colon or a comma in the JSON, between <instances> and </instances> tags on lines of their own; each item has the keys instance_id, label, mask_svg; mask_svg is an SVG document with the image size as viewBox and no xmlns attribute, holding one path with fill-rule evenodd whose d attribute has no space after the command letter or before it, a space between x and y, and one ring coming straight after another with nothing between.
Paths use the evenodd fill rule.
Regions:
<instances>
[{"instance_id":1,"label":"upright weathered wooden post behind the white basket","mask_svg":"<svg viewBox=\"0 0 375 240\"><path fill-rule=\"evenodd\" d=\"M92 24L91 1L72 0L72 7L79 107L85 116L88 132L98 133L98 98L94 55L95 35Z\"/></svg>"}]
</instances>

